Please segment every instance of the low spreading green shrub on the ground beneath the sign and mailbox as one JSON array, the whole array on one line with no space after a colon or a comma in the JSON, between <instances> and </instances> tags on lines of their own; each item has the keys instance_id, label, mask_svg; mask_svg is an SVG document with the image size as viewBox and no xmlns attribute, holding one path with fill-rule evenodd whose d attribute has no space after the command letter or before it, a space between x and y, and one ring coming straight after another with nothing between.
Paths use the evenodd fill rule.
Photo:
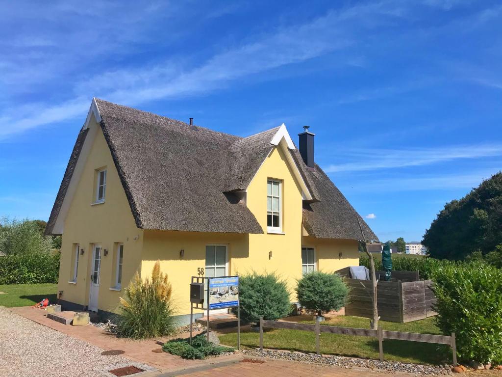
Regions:
<instances>
[{"instance_id":1,"label":"low spreading green shrub on the ground beneath the sign and mailbox","mask_svg":"<svg viewBox=\"0 0 502 377\"><path fill-rule=\"evenodd\" d=\"M199 334L192 339L190 345L189 339L172 339L162 346L165 352L178 355L184 359L203 359L206 356L221 355L225 352L233 352L233 348L216 346L207 341L206 336Z\"/></svg>"}]
</instances>

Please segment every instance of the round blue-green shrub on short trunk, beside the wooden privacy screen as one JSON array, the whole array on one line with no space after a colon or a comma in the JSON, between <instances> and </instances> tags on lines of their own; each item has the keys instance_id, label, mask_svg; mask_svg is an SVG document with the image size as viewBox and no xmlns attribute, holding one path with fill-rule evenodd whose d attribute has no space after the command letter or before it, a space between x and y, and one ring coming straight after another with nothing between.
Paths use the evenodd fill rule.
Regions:
<instances>
[{"instance_id":1,"label":"round blue-green shrub on short trunk, beside the wooden privacy screen","mask_svg":"<svg viewBox=\"0 0 502 377\"><path fill-rule=\"evenodd\" d=\"M340 275L314 271L298 280L296 295L301 306L315 310L320 317L322 312L345 306L348 288Z\"/></svg>"}]
</instances>

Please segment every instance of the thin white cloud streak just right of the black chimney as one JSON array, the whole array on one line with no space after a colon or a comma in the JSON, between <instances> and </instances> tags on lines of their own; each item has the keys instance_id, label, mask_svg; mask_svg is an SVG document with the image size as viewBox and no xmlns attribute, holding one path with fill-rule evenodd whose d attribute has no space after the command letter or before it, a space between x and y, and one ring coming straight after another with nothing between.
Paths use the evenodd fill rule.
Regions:
<instances>
[{"instance_id":1,"label":"thin white cloud streak just right of the black chimney","mask_svg":"<svg viewBox=\"0 0 502 377\"><path fill-rule=\"evenodd\" d=\"M332 164L324 167L329 173L341 171L370 171L395 169L408 166L423 166L457 159L475 159L502 156L502 145L478 144L438 148L408 149L352 149L343 150L344 155L355 161Z\"/></svg>"}]
</instances>

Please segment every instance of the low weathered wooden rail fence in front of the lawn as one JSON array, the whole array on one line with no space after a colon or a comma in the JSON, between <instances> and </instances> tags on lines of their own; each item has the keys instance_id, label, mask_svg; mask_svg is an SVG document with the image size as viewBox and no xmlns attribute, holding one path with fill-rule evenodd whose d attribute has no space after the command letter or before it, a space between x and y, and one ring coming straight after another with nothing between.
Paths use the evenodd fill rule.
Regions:
<instances>
[{"instance_id":1,"label":"low weathered wooden rail fence in front of the lawn","mask_svg":"<svg viewBox=\"0 0 502 377\"><path fill-rule=\"evenodd\" d=\"M378 338L380 361L384 361L384 339L408 340L412 342L424 342L435 344L447 344L452 349L453 365L457 365L457 348L455 345L455 333L451 336L447 335L432 335L432 334L417 334L400 331L386 331L379 326L378 330L359 329L353 327L338 327L326 326L316 322L314 325L308 323L283 322L283 321L266 321L260 317L260 349L263 349L263 329L264 327L273 329L288 329L288 330L303 330L312 331L315 333L315 348L316 353L321 353L320 336L321 333L354 335Z\"/></svg>"}]
</instances>

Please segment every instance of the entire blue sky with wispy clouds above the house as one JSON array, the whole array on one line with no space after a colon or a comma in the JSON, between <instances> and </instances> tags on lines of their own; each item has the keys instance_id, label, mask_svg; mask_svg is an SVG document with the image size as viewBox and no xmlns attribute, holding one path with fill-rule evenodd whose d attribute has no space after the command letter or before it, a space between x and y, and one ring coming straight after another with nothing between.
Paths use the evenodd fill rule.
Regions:
<instances>
[{"instance_id":1,"label":"entire blue sky with wispy clouds above the house","mask_svg":"<svg viewBox=\"0 0 502 377\"><path fill-rule=\"evenodd\" d=\"M94 96L241 136L310 125L382 240L421 240L502 165L499 2L140 3L3 3L0 216L48 219Z\"/></svg>"}]
</instances>

